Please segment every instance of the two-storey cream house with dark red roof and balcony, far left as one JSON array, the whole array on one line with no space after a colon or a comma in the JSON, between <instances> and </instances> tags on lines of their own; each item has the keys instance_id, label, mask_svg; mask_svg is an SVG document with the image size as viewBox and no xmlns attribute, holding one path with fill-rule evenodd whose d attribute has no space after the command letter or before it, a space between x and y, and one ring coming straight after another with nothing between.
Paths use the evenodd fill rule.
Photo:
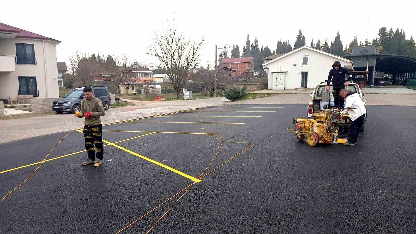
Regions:
<instances>
[{"instance_id":1,"label":"two-storey cream house with dark red roof and balcony, far left","mask_svg":"<svg viewBox=\"0 0 416 234\"><path fill-rule=\"evenodd\" d=\"M59 43L0 23L0 98L59 97L56 58Z\"/></svg>"}]
</instances>

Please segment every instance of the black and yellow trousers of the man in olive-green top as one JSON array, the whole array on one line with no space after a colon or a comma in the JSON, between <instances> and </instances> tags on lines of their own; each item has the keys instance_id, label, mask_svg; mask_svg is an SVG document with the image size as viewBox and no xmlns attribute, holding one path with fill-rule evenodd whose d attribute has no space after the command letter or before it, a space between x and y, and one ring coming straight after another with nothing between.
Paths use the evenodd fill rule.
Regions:
<instances>
[{"instance_id":1,"label":"black and yellow trousers of the man in olive-green top","mask_svg":"<svg viewBox=\"0 0 416 234\"><path fill-rule=\"evenodd\" d=\"M84 142L85 149L87 149L88 158L95 161L95 151L97 150L97 158L102 160L104 155L103 137L102 137L103 126L98 125L84 125ZM94 144L95 148L94 149Z\"/></svg>"}]
</instances>

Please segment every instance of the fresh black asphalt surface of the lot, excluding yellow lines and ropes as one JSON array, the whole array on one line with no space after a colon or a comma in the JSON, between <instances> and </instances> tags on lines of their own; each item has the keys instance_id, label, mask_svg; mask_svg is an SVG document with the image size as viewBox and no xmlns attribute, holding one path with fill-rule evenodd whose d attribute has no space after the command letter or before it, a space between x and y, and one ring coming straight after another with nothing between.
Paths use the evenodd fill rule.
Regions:
<instances>
[{"instance_id":1,"label":"fresh black asphalt surface of the lot, excluding yellow lines and ropes","mask_svg":"<svg viewBox=\"0 0 416 234\"><path fill-rule=\"evenodd\" d=\"M251 108L251 107L285 108ZM135 122L233 122L173 124L126 122L104 130L205 132L225 141L252 142L186 192L150 233L416 233L415 107L368 106L365 132L354 147L310 147L287 133L305 105L226 105ZM276 112L200 112L271 111ZM173 117L173 116L262 117ZM0 145L0 171L39 162L67 132ZM117 142L142 132L103 132ZM345 136L345 134L344 134ZM218 136L213 136L218 137ZM154 133L118 143L193 177L220 147L209 135ZM207 172L247 147L223 142ZM71 132L50 154L84 150ZM0 202L1 233L116 233L193 181L114 146L104 164L82 167L82 152L42 164ZM38 164L0 174L0 199ZM181 194L180 194L181 195ZM121 233L146 233L179 196Z\"/></svg>"}]
</instances>

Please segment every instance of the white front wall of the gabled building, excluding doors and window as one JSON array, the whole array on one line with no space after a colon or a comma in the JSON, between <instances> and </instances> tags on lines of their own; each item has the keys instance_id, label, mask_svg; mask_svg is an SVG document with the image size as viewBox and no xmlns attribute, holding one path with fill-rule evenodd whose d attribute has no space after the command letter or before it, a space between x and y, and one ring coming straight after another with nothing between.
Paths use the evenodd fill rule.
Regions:
<instances>
[{"instance_id":1,"label":"white front wall of the gabled building, excluding doors and window","mask_svg":"<svg viewBox=\"0 0 416 234\"><path fill-rule=\"evenodd\" d=\"M307 66L302 66L303 56L308 56ZM314 88L320 82L327 80L329 70L332 69L335 61L339 61L342 67L351 65L351 62L346 62L307 48L298 50L265 66L268 68L267 88L269 90L272 89L273 72L283 71L287 71L285 73L285 89L293 90L301 87L301 72L308 72L307 87Z\"/></svg>"}]
</instances>

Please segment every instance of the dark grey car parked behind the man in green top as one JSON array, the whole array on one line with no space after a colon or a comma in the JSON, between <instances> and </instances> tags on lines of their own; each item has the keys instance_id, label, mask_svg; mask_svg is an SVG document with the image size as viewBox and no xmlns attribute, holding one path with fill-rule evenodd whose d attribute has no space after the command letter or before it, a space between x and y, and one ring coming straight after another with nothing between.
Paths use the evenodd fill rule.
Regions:
<instances>
[{"instance_id":1,"label":"dark grey car parked behind the man in green top","mask_svg":"<svg viewBox=\"0 0 416 234\"><path fill-rule=\"evenodd\" d=\"M111 103L110 93L103 86L93 86L94 96L103 103L104 110L108 110ZM79 87L69 91L64 97L59 98L52 104L52 110L57 113L81 111L81 101L84 99L84 87Z\"/></svg>"}]
</instances>

